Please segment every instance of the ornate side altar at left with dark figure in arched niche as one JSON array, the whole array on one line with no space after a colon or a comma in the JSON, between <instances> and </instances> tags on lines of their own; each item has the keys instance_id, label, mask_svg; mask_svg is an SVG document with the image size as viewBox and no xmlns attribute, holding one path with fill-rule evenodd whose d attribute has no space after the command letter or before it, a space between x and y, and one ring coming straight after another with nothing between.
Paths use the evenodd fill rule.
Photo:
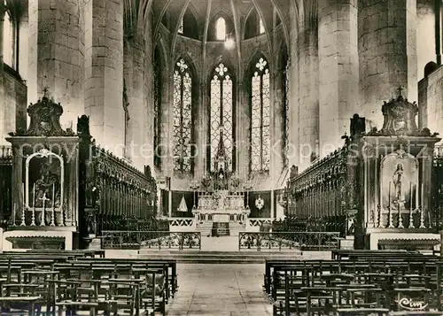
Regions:
<instances>
[{"instance_id":1,"label":"ornate side altar at left with dark figure in arched niche","mask_svg":"<svg viewBox=\"0 0 443 316\"><path fill-rule=\"evenodd\" d=\"M79 222L80 139L60 127L63 108L46 95L27 112L27 130L6 139L12 143L13 208L4 238L12 248L72 249Z\"/></svg>"}]
</instances>

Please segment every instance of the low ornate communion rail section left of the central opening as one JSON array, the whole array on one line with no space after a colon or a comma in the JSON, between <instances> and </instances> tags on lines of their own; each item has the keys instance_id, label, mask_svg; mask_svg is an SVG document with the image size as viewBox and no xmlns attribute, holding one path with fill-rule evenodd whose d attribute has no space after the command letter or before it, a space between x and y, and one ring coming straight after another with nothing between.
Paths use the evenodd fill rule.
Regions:
<instances>
[{"instance_id":1,"label":"low ornate communion rail section left of the central opening","mask_svg":"<svg viewBox=\"0 0 443 316\"><path fill-rule=\"evenodd\" d=\"M193 249L201 250L200 232L103 231L102 249Z\"/></svg>"}]
</instances>

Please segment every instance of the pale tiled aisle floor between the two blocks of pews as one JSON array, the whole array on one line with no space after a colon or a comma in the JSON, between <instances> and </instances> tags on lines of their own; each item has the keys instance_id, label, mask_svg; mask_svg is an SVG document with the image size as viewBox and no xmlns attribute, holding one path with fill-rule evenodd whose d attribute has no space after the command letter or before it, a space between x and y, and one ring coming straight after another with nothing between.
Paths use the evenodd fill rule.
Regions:
<instances>
[{"instance_id":1,"label":"pale tiled aisle floor between the two blocks of pews","mask_svg":"<svg viewBox=\"0 0 443 316\"><path fill-rule=\"evenodd\" d=\"M272 315L261 288L263 270L264 265L179 265L180 289L167 315Z\"/></svg>"}]
</instances>

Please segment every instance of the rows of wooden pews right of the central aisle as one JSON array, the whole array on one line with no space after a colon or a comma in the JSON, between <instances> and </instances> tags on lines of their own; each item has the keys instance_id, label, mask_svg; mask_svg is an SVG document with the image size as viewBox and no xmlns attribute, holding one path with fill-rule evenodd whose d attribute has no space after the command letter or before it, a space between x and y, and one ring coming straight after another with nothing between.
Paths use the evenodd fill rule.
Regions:
<instances>
[{"instance_id":1,"label":"rows of wooden pews right of the central aisle","mask_svg":"<svg viewBox=\"0 0 443 316\"><path fill-rule=\"evenodd\" d=\"M334 250L330 260L266 260L274 315L443 315L443 260L408 251Z\"/></svg>"}]
</instances>

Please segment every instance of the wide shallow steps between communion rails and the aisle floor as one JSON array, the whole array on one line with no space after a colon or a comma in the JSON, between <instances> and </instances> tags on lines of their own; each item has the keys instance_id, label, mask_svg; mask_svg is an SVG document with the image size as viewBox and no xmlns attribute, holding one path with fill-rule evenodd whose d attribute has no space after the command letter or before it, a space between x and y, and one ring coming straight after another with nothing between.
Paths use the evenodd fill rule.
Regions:
<instances>
[{"instance_id":1,"label":"wide shallow steps between communion rails and the aisle floor","mask_svg":"<svg viewBox=\"0 0 443 316\"><path fill-rule=\"evenodd\" d=\"M139 250L136 258L175 259L185 264L264 264L266 259L301 259L299 250L274 251L203 251L203 250ZM303 256L305 258L305 256Z\"/></svg>"}]
</instances>

